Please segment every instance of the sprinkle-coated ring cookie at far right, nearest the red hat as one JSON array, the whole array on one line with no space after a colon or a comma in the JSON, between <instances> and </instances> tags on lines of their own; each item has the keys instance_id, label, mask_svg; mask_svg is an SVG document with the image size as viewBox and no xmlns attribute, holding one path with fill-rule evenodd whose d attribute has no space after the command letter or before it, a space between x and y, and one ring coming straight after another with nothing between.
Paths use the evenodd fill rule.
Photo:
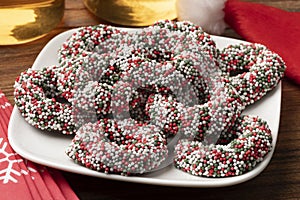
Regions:
<instances>
[{"instance_id":1,"label":"sprinkle-coated ring cookie at far right, nearest the red hat","mask_svg":"<svg viewBox=\"0 0 300 200\"><path fill-rule=\"evenodd\" d=\"M238 44L224 48L220 69L245 105L253 104L277 86L283 77L282 58L261 44Z\"/></svg>"}]
</instances>

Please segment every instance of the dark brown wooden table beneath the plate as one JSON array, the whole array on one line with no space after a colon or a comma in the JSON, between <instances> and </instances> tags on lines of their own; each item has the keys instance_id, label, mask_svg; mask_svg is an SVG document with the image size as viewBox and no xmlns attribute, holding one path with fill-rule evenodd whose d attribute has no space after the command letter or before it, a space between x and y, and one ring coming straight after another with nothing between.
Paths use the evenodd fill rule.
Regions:
<instances>
[{"instance_id":1,"label":"dark brown wooden table beneath the plate","mask_svg":"<svg viewBox=\"0 0 300 200\"><path fill-rule=\"evenodd\" d=\"M252 0L289 11L300 11L299 0ZM82 0L66 0L60 25L47 36L18 46L0 47L0 88L13 102L13 84L20 72L31 67L45 44L55 35L71 28L101 21L90 14ZM227 30L225 36L240 38ZM282 106L279 137L268 167L256 178L224 188L175 188L110 181L63 172L80 199L300 199L300 86L282 81Z\"/></svg>"}]
</instances>

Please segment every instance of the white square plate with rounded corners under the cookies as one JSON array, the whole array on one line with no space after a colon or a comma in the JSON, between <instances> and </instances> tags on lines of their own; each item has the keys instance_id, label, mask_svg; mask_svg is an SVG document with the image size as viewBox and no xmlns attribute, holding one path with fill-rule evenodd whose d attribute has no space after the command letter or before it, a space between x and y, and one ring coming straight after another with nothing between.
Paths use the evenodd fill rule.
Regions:
<instances>
[{"instance_id":1,"label":"white square plate with rounded corners under the cookies","mask_svg":"<svg viewBox=\"0 0 300 200\"><path fill-rule=\"evenodd\" d=\"M61 44L74 32L69 30L53 38L40 52L33 64L34 69L58 64L57 50ZM243 41L213 36L218 48ZM181 186L181 187L222 187L234 185L250 180L260 174L270 162L278 135L278 126L281 107L281 84L259 102L247 108L246 114L258 115L267 120L273 135L273 150L265 157L262 163L252 171L236 177L228 178L202 178L189 175L172 166L138 177L121 175L107 175L87 169L75 164L66 154L65 149L70 144L72 137L49 134L30 126L15 107L8 128L8 138L14 150L24 158L49 167L68 172L121 180L135 183Z\"/></svg>"}]
</instances>

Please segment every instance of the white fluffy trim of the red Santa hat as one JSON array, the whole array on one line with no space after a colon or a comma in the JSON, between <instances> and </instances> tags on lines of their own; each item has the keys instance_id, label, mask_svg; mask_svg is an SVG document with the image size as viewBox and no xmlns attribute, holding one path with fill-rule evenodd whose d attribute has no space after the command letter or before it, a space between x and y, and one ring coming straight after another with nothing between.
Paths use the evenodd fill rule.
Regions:
<instances>
[{"instance_id":1,"label":"white fluffy trim of the red Santa hat","mask_svg":"<svg viewBox=\"0 0 300 200\"><path fill-rule=\"evenodd\" d=\"M224 6L226 0L177 0L177 16L180 21L190 21L204 31L220 35L226 28Z\"/></svg>"}]
</instances>

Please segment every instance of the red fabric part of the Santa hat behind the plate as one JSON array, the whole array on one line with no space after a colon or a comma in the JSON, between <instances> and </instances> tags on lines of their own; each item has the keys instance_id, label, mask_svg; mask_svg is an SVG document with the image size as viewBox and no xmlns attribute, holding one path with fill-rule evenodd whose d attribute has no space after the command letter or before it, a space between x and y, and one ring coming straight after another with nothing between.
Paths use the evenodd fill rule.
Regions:
<instances>
[{"instance_id":1,"label":"red fabric part of the Santa hat behind the plate","mask_svg":"<svg viewBox=\"0 0 300 200\"><path fill-rule=\"evenodd\" d=\"M287 65L286 77L300 84L300 13L228 0L225 22L245 40L264 44Z\"/></svg>"}]
</instances>

